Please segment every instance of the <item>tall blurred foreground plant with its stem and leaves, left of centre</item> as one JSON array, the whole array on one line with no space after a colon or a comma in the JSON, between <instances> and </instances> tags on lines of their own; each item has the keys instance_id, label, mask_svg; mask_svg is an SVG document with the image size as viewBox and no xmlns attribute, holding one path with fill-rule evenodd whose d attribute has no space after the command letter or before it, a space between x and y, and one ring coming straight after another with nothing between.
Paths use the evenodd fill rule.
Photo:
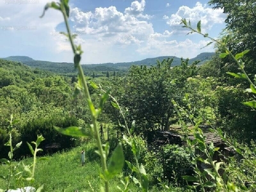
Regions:
<instances>
[{"instance_id":1,"label":"tall blurred foreground plant with its stem and leaves, left of centre","mask_svg":"<svg viewBox=\"0 0 256 192\"><path fill-rule=\"evenodd\" d=\"M70 31L70 26L68 24L68 17L70 12L68 0L60 0L60 3L56 3L56 2L47 3L44 8L44 13L49 8L53 8L54 10L60 11L65 20L67 33L61 32L61 34L67 36L68 40L70 41L70 45L74 53L74 68L78 70L78 81L76 83L75 92L79 93L81 91L84 93L84 97L90 109L90 116L91 116L91 122L92 122L92 124L88 125L90 132L86 132L86 130L82 127L67 127L65 129L61 129L60 127L55 127L55 129L61 132L62 134L66 134L69 136L89 136L89 137L95 138L95 140L97 141L97 146L99 148L97 153L100 156L101 164L102 164L102 174L100 174L100 176L104 180L105 191L108 192L109 191L108 181L113 177L115 177L115 175L118 174L122 170L122 167L124 166L124 154L123 154L121 143L119 143L115 148L112 156L110 157L109 164L107 165L107 157L109 154L109 143L102 145L100 140L100 135L99 135L99 128L97 126L97 118L102 112L104 103L109 97L109 91L104 93L104 95L102 95L99 102L99 107L96 109L90 97L90 92L88 90L86 78L84 77L83 68L80 64L81 54L83 54L83 51L81 50L81 45L77 46L74 44L74 38L76 37L76 35L72 35ZM44 13L42 14L41 17L44 17Z\"/></svg>"}]
</instances>

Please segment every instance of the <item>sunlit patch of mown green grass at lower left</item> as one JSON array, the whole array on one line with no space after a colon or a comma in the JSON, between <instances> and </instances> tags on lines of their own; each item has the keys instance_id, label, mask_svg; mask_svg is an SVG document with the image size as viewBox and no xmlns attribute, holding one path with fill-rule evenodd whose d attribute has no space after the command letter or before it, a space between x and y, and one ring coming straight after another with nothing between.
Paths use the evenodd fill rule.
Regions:
<instances>
[{"instance_id":1,"label":"sunlit patch of mown green grass at lower left","mask_svg":"<svg viewBox=\"0 0 256 192\"><path fill-rule=\"evenodd\" d=\"M81 150L85 150L85 165L81 165ZM49 157L47 161L38 161L35 171L35 183L32 186L38 188L44 184L44 191L100 191L100 185L104 186L100 173L100 158L95 154L95 141L84 143L81 147L73 148L66 152L58 152ZM22 161L24 164L31 164L33 159L28 158ZM16 162L15 164L18 165ZM18 165L22 170L21 164ZM3 174L4 173L4 174ZM6 165L0 165L0 175L8 173ZM122 183L119 177L111 180L109 183L110 191L118 191L117 186L122 188ZM15 184L15 179L12 179L12 184ZM6 186L6 182L0 179L0 186ZM16 184L20 187L20 184ZM31 184L29 184L31 186ZM131 191L138 191L136 186L131 186Z\"/></svg>"}]
</instances>

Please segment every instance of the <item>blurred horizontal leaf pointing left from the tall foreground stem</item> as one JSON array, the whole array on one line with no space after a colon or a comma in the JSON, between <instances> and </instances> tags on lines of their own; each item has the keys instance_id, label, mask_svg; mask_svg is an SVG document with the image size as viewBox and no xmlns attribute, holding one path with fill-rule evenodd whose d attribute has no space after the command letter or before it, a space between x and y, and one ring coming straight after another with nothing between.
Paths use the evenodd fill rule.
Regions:
<instances>
[{"instance_id":1,"label":"blurred horizontal leaf pointing left from the tall foreground stem","mask_svg":"<svg viewBox=\"0 0 256 192\"><path fill-rule=\"evenodd\" d=\"M88 131L86 131L82 127L67 127L67 128L60 128L54 126L54 129L61 134L65 134L68 136L74 136L74 137L92 137L92 134Z\"/></svg>"}]
</instances>

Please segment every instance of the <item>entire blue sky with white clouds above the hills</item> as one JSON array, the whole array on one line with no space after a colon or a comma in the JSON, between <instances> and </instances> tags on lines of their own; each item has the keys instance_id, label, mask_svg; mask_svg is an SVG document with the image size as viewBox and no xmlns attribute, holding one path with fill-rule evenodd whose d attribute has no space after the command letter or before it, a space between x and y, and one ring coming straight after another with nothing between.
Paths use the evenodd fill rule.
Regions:
<instances>
[{"instance_id":1,"label":"entire blue sky with white clouds above the hills","mask_svg":"<svg viewBox=\"0 0 256 192\"><path fill-rule=\"evenodd\" d=\"M0 1L0 58L29 56L34 60L72 62L63 17L47 10L47 0ZM200 49L208 40L186 35L180 19L202 22L202 30L218 37L225 15L207 0L70 0L70 28L84 51L82 63L138 61L156 56L194 58L212 52Z\"/></svg>"}]
</instances>

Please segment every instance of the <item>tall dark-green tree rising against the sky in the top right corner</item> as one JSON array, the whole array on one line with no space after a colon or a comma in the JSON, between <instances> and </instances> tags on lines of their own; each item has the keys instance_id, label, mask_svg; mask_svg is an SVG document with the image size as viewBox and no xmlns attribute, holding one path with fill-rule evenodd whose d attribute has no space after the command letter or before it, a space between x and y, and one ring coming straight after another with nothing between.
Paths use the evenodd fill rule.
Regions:
<instances>
[{"instance_id":1,"label":"tall dark-green tree rising against the sky in the top right corner","mask_svg":"<svg viewBox=\"0 0 256 192\"><path fill-rule=\"evenodd\" d=\"M223 13L227 14L226 28L221 36L221 40L227 42L227 47L235 55L244 50L250 50L243 60L246 63L244 70L248 74L256 74L256 4L254 0L211 0L209 4L214 9L223 9ZM218 46L219 51L223 51L223 47ZM232 65L232 61L227 57L225 63ZM237 66L230 70L235 72Z\"/></svg>"}]
</instances>

